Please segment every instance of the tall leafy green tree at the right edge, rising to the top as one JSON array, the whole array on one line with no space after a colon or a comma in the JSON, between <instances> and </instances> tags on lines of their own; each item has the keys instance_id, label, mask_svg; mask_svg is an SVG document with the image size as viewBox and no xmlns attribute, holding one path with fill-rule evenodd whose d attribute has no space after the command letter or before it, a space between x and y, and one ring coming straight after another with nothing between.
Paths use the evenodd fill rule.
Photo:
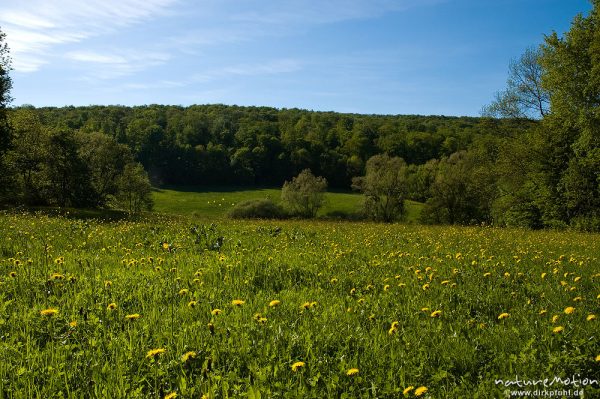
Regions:
<instances>
[{"instance_id":1,"label":"tall leafy green tree at the right edge, rising to the top","mask_svg":"<svg viewBox=\"0 0 600 399\"><path fill-rule=\"evenodd\" d=\"M537 145L544 218L600 229L600 0L592 3L542 47L550 113Z\"/></svg>"}]
</instances>

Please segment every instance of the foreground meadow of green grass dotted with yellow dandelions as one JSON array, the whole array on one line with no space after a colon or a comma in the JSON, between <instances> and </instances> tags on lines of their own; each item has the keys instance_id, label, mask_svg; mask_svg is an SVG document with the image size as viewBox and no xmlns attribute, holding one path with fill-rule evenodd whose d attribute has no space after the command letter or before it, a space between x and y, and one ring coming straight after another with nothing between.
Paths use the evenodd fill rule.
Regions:
<instances>
[{"instance_id":1,"label":"foreground meadow of green grass dotted with yellow dandelions","mask_svg":"<svg viewBox=\"0 0 600 399\"><path fill-rule=\"evenodd\" d=\"M0 214L0 397L600 395L598 235L197 220Z\"/></svg>"}]
</instances>

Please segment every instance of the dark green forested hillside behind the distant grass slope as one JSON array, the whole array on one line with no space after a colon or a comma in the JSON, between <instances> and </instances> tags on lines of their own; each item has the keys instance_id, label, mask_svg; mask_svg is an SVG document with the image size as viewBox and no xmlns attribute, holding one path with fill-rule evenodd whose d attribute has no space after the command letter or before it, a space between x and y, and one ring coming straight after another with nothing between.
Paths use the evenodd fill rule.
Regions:
<instances>
[{"instance_id":1,"label":"dark green forested hillside behind the distant grass slope","mask_svg":"<svg viewBox=\"0 0 600 399\"><path fill-rule=\"evenodd\" d=\"M27 107L15 109L23 112ZM31 108L42 124L101 132L127 145L155 184L276 185L304 169L350 187L375 154L408 164L505 134L480 118L377 116L267 107L149 105ZM520 123L497 121L519 131Z\"/></svg>"}]
</instances>

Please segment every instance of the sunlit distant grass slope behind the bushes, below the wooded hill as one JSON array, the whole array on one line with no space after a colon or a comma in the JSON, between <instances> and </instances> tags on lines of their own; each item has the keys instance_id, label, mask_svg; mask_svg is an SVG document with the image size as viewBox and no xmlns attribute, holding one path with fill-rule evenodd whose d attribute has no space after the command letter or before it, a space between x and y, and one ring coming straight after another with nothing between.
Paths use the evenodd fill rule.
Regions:
<instances>
[{"instance_id":1,"label":"sunlit distant grass slope behind the bushes, below the wooded hill","mask_svg":"<svg viewBox=\"0 0 600 399\"><path fill-rule=\"evenodd\" d=\"M281 189L249 187L166 187L153 193L154 210L159 213L195 215L206 218L222 218L238 203L253 199L281 200ZM352 214L361 209L363 197L356 193L328 192L323 208L317 217L335 217ZM407 202L407 221L415 221L422 204Z\"/></svg>"}]
</instances>

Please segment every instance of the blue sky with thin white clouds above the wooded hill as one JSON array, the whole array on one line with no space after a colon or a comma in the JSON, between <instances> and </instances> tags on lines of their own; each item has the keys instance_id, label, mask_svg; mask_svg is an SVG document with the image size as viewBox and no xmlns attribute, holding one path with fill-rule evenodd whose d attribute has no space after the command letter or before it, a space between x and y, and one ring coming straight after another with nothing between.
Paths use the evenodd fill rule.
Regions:
<instances>
[{"instance_id":1,"label":"blue sky with thin white clouds above the wooded hill","mask_svg":"<svg viewBox=\"0 0 600 399\"><path fill-rule=\"evenodd\" d=\"M14 104L477 116L587 0L2 0Z\"/></svg>"}]
</instances>

